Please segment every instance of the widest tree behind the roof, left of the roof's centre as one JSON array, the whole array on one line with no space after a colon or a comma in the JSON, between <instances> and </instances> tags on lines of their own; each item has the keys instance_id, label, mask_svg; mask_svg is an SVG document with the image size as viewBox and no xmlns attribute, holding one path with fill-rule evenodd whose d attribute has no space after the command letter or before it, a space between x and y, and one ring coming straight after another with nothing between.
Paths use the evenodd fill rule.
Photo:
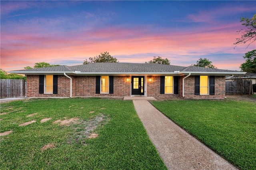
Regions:
<instances>
[{"instance_id":1,"label":"widest tree behind the roof, left of the roof's centre","mask_svg":"<svg viewBox=\"0 0 256 170\"><path fill-rule=\"evenodd\" d=\"M95 57L90 57L89 62L84 60L83 64L89 64L89 63L117 63L116 57L112 57L108 52L100 53L100 55Z\"/></svg>"}]
</instances>

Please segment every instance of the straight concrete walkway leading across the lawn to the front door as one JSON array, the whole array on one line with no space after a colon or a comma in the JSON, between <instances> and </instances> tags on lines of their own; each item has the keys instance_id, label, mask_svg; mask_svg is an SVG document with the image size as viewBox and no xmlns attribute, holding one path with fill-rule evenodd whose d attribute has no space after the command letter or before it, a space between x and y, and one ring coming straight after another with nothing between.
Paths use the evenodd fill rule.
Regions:
<instances>
[{"instance_id":1,"label":"straight concrete walkway leading across the lawn to the front door","mask_svg":"<svg viewBox=\"0 0 256 170\"><path fill-rule=\"evenodd\" d=\"M133 100L133 104L169 170L237 170L173 123L147 100Z\"/></svg>"}]
</instances>

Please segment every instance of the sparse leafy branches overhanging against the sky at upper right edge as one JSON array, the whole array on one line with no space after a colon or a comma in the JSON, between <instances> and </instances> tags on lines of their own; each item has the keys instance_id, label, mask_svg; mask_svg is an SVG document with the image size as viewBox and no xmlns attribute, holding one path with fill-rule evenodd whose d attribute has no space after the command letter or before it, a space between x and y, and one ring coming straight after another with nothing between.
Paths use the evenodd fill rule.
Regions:
<instances>
[{"instance_id":1,"label":"sparse leafy branches overhanging against the sky at upper right edge","mask_svg":"<svg viewBox=\"0 0 256 170\"><path fill-rule=\"evenodd\" d=\"M248 42L249 46L251 43L256 41L256 14L254 14L251 19L241 18L240 22L243 22L242 25L244 25L246 29L240 29L239 31L237 31L237 33L241 32L242 35L240 38L236 39L236 43L234 43L234 45L245 44Z\"/></svg>"}]
</instances>

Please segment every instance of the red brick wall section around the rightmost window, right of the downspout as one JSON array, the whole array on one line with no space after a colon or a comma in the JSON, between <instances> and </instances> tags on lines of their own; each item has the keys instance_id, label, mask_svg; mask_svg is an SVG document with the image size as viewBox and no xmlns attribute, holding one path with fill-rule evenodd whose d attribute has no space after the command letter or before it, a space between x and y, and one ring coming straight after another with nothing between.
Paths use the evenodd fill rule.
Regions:
<instances>
[{"instance_id":1,"label":"red brick wall section around the rightmost window, right of the downspout","mask_svg":"<svg viewBox=\"0 0 256 170\"><path fill-rule=\"evenodd\" d=\"M184 98L196 99L224 99L225 98L225 76L215 76L215 95L195 95L195 76L189 76L184 80ZM182 94L181 94L182 97Z\"/></svg>"}]
</instances>

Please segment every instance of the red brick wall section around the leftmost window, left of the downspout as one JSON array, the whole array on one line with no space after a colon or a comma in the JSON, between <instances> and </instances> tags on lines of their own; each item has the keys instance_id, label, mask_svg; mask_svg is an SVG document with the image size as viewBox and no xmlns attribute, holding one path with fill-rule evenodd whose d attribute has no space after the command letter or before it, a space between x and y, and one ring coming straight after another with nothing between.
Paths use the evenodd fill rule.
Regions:
<instances>
[{"instance_id":1,"label":"red brick wall section around the leftmost window, left of the downspout","mask_svg":"<svg viewBox=\"0 0 256 170\"><path fill-rule=\"evenodd\" d=\"M39 94L39 75L27 75L27 97L69 97L70 79L58 75L58 94Z\"/></svg>"}]
</instances>

